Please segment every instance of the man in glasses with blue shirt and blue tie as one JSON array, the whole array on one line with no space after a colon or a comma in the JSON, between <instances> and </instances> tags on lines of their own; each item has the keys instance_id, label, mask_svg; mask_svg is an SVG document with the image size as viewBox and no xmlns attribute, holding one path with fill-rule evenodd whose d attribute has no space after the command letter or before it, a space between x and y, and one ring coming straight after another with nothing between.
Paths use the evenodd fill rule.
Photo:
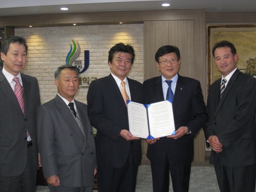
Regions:
<instances>
[{"instance_id":1,"label":"man in glasses with blue shirt and blue tie","mask_svg":"<svg viewBox=\"0 0 256 192\"><path fill-rule=\"evenodd\" d=\"M173 191L185 192L189 189L194 137L206 123L208 116L200 83L178 74L178 47L160 47L155 54L155 60L162 75L143 83L144 102L148 104L163 101L166 97L171 99L176 134L146 140L149 144L147 157L151 165L153 191L169 191L170 172ZM169 94L174 97L169 98Z\"/></svg>"}]
</instances>

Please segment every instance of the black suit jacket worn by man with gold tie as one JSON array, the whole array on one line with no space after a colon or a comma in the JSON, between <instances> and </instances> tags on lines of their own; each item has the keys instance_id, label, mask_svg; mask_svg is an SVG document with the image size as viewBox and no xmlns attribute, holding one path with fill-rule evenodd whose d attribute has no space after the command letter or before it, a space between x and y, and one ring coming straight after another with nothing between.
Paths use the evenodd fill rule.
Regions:
<instances>
[{"instance_id":1,"label":"black suit jacket worn by man with gold tie","mask_svg":"<svg viewBox=\"0 0 256 192\"><path fill-rule=\"evenodd\" d=\"M142 102L141 83L127 78L131 100ZM115 79L110 74L92 81L87 93L89 119L97 129L96 150L98 166L122 167L133 147L135 164L141 162L141 141L126 141L119 136L129 130L127 108Z\"/></svg>"}]
</instances>

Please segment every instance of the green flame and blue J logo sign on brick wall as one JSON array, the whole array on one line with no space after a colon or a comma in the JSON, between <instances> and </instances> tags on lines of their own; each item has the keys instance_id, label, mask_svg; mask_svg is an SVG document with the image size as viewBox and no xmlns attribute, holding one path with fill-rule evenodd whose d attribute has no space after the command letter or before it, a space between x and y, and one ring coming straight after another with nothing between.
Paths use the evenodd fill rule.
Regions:
<instances>
[{"instance_id":1,"label":"green flame and blue J logo sign on brick wall","mask_svg":"<svg viewBox=\"0 0 256 192\"><path fill-rule=\"evenodd\" d=\"M80 45L78 42L75 43L75 41L72 39L73 42L73 47L70 44L70 50L67 54L66 57L66 65L72 65L73 62L75 61L75 65L77 68L80 69L80 74L84 73L84 71L86 71L89 67L89 51L84 51L84 67L82 65L82 61L81 60L76 60L81 52L80 49Z\"/></svg>"}]
</instances>

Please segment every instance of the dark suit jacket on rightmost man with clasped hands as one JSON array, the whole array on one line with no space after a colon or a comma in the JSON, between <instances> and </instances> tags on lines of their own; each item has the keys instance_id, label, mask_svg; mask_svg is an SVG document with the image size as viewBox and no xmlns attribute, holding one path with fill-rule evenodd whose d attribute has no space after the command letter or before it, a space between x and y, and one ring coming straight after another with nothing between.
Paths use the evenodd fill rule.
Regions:
<instances>
[{"instance_id":1,"label":"dark suit jacket on rightmost man with clasped hands","mask_svg":"<svg viewBox=\"0 0 256 192\"><path fill-rule=\"evenodd\" d=\"M238 69L231 76L218 103L221 79L209 88L204 126L206 140L217 135L223 145L221 153L211 151L210 163L218 159L226 166L245 166L256 162L255 96L256 79Z\"/></svg>"}]
</instances>

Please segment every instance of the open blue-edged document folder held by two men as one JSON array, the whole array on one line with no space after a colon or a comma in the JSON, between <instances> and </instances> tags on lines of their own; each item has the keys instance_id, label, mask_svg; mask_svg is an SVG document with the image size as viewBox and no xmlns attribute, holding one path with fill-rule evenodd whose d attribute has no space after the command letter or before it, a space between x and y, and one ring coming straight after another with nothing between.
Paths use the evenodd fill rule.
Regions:
<instances>
[{"instance_id":1,"label":"open blue-edged document folder held by two men","mask_svg":"<svg viewBox=\"0 0 256 192\"><path fill-rule=\"evenodd\" d=\"M134 137L154 139L175 134L170 100L143 105L127 101L130 132Z\"/></svg>"}]
</instances>

